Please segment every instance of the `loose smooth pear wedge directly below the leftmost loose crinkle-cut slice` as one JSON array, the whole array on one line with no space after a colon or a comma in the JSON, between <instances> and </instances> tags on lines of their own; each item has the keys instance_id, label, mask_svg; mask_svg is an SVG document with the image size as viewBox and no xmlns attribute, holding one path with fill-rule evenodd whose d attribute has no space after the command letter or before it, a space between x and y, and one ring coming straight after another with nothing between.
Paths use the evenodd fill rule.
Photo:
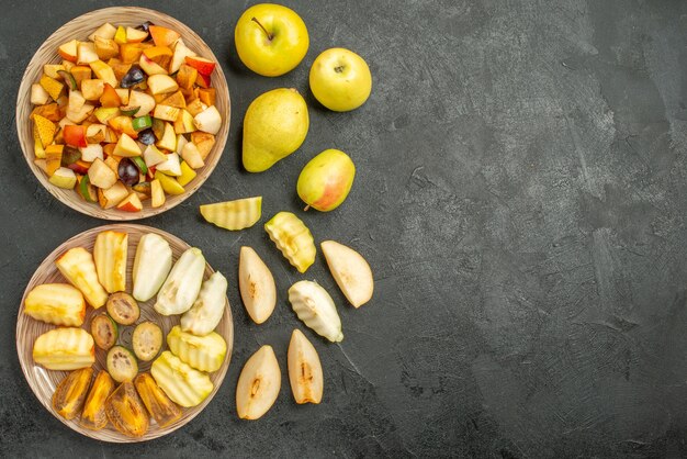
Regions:
<instances>
[{"instance_id":1,"label":"loose smooth pear wedge directly below the leftmost loose crinkle-cut slice","mask_svg":"<svg viewBox=\"0 0 687 459\"><path fill-rule=\"evenodd\" d=\"M240 250L238 289L252 322L261 324L270 318L277 305L277 286L272 272L251 247Z\"/></svg>"}]
</instances>

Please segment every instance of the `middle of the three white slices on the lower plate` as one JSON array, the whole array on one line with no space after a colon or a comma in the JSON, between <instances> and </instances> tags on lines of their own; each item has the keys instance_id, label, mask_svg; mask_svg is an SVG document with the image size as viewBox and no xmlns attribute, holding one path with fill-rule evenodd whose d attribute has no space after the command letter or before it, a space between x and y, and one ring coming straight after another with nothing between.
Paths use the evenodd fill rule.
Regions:
<instances>
[{"instance_id":1,"label":"middle of the three white slices on the lower plate","mask_svg":"<svg viewBox=\"0 0 687 459\"><path fill-rule=\"evenodd\" d=\"M155 311L162 315L189 311L201 291L205 257L195 247L181 254L157 294Z\"/></svg>"}]
</instances>

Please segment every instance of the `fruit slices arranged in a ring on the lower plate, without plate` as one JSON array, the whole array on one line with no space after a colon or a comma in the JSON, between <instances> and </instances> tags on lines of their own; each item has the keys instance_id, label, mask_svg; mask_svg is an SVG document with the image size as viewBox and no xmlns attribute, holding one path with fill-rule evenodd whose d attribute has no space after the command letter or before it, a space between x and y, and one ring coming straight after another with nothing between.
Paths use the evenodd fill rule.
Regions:
<instances>
[{"instance_id":1,"label":"fruit slices arranged in a ring on the lower plate, without plate","mask_svg":"<svg viewBox=\"0 0 687 459\"><path fill-rule=\"evenodd\" d=\"M198 248L187 249L173 264L165 237L145 234L137 247L128 247L128 240L126 232L103 231L93 254L86 247L65 251L56 265L68 283L33 288L24 314L60 325L33 343L35 365L71 371L53 393L55 413L90 430L110 425L139 438L153 426L173 424L215 388L211 374L227 356L227 343L216 332L226 309L227 281L219 272L203 281L206 264ZM136 253L132 279L126 270L129 249ZM126 289L145 300L139 303ZM156 295L155 304L166 305L165 316L173 314L180 324L166 339L151 318L162 322L162 315L153 301L145 302ZM100 310L85 321L89 306L95 305ZM127 327L131 334L123 333ZM105 368L98 368L99 361ZM147 366L149 372L142 368Z\"/></svg>"}]
</instances>

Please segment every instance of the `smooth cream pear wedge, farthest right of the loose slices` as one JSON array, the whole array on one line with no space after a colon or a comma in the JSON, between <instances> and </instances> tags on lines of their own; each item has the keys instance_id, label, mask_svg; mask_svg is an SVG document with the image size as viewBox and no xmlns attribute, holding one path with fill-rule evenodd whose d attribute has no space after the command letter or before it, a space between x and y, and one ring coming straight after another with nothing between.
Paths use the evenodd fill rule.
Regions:
<instances>
[{"instance_id":1,"label":"smooth cream pear wedge, farthest right of the loose slices","mask_svg":"<svg viewBox=\"0 0 687 459\"><path fill-rule=\"evenodd\" d=\"M356 307L370 301L374 279L362 255L336 240L324 240L320 246L329 271L346 299Z\"/></svg>"}]
</instances>

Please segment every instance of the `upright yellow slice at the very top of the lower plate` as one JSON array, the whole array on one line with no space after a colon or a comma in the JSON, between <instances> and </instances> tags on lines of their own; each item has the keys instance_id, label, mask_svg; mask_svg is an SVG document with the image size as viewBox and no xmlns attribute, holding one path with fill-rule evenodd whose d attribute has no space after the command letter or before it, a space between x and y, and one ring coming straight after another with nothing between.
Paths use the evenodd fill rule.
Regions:
<instances>
[{"instance_id":1,"label":"upright yellow slice at the very top of the lower plate","mask_svg":"<svg viewBox=\"0 0 687 459\"><path fill-rule=\"evenodd\" d=\"M109 293L126 290L126 255L128 234L115 231L98 233L93 259L98 279Z\"/></svg>"}]
</instances>

